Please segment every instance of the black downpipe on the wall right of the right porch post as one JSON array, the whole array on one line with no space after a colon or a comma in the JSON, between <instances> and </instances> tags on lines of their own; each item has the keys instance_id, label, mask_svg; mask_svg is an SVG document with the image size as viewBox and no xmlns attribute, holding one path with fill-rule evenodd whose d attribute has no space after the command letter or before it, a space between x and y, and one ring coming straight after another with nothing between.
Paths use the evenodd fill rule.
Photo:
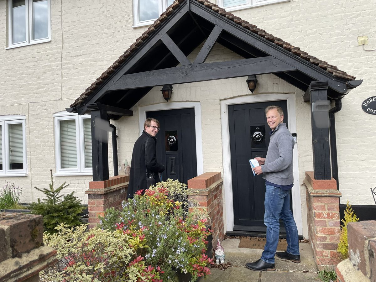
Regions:
<instances>
[{"instance_id":1,"label":"black downpipe on the wall right of the right porch post","mask_svg":"<svg viewBox=\"0 0 376 282\"><path fill-rule=\"evenodd\" d=\"M329 140L330 140L330 153L332 159L332 176L337 180L337 190L340 190L338 183L338 160L337 160L337 141L335 138L335 118L334 114L341 111L342 99L335 100L335 106L329 110Z\"/></svg>"}]
</instances>

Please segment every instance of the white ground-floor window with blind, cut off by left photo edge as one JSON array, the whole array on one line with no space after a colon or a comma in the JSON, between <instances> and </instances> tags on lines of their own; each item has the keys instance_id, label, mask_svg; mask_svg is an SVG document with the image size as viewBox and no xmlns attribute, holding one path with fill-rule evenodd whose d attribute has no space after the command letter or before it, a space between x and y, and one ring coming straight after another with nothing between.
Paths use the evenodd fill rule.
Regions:
<instances>
[{"instance_id":1,"label":"white ground-floor window with blind, cut off by left photo edge","mask_svg":"<svg viewBox=\"0 0 376 282\"><path fill-rule=\"evenodd\" d=\"M0 116L0 176L26 176L25 116Z\"/></svg>"}]
</instances>

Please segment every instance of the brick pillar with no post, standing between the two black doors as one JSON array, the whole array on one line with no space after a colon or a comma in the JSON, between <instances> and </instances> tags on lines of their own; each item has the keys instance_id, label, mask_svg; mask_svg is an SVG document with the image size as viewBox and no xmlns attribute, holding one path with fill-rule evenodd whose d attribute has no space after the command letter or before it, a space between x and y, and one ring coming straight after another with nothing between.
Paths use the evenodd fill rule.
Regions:
<instances>
[{"instance_id":1,"label":"brick pillar with no post, standing between the two black doors","mask_svg":"<svg viewBox=\"0 0 376 282\"><path fill-rule=\"evenodd\" d=\"M206 172L188 180L188 202L190 211L201 209L210 218L212 246L224 238L222 183L220 172Z\"/></svg>"}]
</instances>

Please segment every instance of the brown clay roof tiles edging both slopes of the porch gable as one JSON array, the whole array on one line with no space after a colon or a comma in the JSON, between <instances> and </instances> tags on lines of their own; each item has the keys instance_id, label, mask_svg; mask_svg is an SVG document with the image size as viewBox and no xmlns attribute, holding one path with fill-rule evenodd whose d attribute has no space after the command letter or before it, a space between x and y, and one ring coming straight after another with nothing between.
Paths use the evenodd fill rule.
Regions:
<instances>
[{"instance_id":1,"label":"brown clay roof tiles edging both slopes of the porch gable","mask_svg":"<svg viewBox=\"0 0 376 282\"><path fill-rule=\"evenodd\" d=\"M165 12L161 14L161 16L139 37L136 41L130 45L130 47L122 54L115 62L111 65L105 72L102 73L100 77L97 78L86 90L83 92L71 105L71 107L79 106L82 102L84 102L106 79L115 71L117 68L121 66L121 64L126 61L129 56L137 50L143 42L156 31L158 26L161 25L167 18L172 14L172 12L179 7L179 5L186 0L175 0L172 5L170 5ZM196 0L198 3L206 6L207 8L212 9L212 11L217 12L219 15L226 17L228 20L233 21L241 25L244 29L250 30L251 32L267 39L270 42L273 42L277 46L282 49L287 50L288 52L293 53L296 56L308 61L309 63L320 67L321 69L327 71L328 73L332 74L334 77L338 77L340 79L346 80L355 80L354 76L350 76L344 71L338 70L338 68L334 65L328 64L325 61L321 61L320 59L309 55L307 52L300 50L299 47L295 47L288 42L283 41L276 36L271 35L270 33L266 32L264 29L259 29L257 26L250 24L249 22L242 20L235 15L226 12L223 8L218 7L218 5L209 2L208 0Z\"/></svg>"}]
</instances>

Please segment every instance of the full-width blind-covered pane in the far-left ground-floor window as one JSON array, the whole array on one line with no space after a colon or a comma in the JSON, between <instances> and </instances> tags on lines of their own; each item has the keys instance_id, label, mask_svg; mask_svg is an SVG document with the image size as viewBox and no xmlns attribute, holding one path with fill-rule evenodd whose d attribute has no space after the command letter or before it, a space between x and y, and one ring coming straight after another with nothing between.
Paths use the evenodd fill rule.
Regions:
<instances>
[{"instance_id":1,"label":"full-width blind-covered pane in the far-left ground-floor window","mask_svg":"<svg viewBox=\"0 0 376 282\"><path fill-rule=\"evenodd\" d=\"M23 169L23 136L22 124L9 124L9 168Z\"/></svg>"}]
</instances>

